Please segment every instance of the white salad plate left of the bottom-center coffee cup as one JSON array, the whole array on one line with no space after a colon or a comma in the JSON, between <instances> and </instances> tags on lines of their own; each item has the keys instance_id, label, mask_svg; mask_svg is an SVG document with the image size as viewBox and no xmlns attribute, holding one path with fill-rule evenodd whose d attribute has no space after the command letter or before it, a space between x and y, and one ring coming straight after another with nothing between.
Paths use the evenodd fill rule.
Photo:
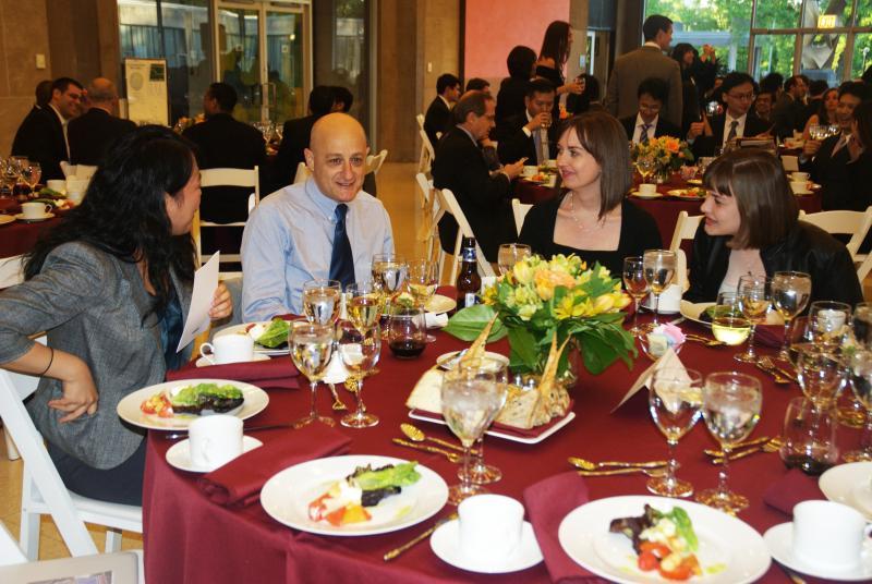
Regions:
<instances>
[{"instance_id":1,"label":"white salad plate left of the bottom-center coffee cup","mask_svg":"<svg viewBox=\"0 0 872 584\"><path fill-rule=\"evenodd\" d=\"M308 503L324 495L332 483L352 474L358 466L373 469L408 462L391 457L350 455L312 460L284 469L266 482L261 504L272 519L289 527L320 535L375 535L396 532L432 518L448 500L445 480L419 464L421 478L402 487L402 492L383 499L366 510L372 519L349 525L330 525L308 518Z\"/></svg>"}]
</instances>

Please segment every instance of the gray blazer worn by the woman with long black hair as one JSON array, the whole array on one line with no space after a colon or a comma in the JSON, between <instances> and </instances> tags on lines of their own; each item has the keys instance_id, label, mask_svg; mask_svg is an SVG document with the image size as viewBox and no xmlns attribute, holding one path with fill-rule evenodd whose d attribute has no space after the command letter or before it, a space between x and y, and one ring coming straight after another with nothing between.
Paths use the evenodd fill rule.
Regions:
<instances>
[{"instance_id":1,"label":"gray blazer worn by the woman with long black hair","mask_svg":"<svg viewBox=\"0 0 872 584\"><path fill-rule=\"evenodd\" d=\"M191 283L172 275L182 313L191 306ZM48 344L81 357L99 393L97 413L60 424L48 406L62 396L61 382L43 378L27 410L51 443L96 469L112 469L140 446L144 434L121 422L116 406L166 375L157 316L135 264L88 244L65 243L46 258L31 280L0 294L0 363L24 355L28 336L48 331ZM190 355L191 348L186 348Z\"/></svg>"}]
</instances>

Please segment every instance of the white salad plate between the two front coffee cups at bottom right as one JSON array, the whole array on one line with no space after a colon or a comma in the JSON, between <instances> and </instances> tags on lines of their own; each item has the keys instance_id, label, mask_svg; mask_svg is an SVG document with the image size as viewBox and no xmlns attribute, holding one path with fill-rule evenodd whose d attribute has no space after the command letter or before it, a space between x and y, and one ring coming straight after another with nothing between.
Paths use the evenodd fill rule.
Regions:
<instances>
[{"instance_id":1,"label":"white salad plate between the two front coffee cups at bottom right","mask_svg":"<svg viewBox=\"0 0 872 584\"><path fill-rule=\"evenodd\" d=\"M642 515L645 503L664 512L680 507L690 515L703 570L693 582L754 582L770 569L766 543L753 527L711 507L666 497L611 497L585 503L560 523L560 546L582 568L615 582L670 582L656 571L639 570L630 538L608 531L611 520Z\"/></svg>"}]
</instances>

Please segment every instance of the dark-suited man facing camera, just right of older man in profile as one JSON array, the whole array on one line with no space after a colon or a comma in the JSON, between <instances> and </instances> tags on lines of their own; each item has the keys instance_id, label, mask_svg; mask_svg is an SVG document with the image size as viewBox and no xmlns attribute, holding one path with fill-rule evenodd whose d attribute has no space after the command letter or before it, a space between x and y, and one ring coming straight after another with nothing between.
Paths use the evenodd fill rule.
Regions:
<instances>
[{"instance_id":1,"label":"dark-suited man facing camera, just right of older man in profile","mask_svg":"<svg viewBox=\"0 0 872 584\"><path fill-rule=\"evenodd\" d=\"M494 132L500 160L526 158L529 165L544 165L556 158L552 120L555 95L548 80L535 78L528 84L524 112L506 118Z\"/></svg>"}]
</instances>

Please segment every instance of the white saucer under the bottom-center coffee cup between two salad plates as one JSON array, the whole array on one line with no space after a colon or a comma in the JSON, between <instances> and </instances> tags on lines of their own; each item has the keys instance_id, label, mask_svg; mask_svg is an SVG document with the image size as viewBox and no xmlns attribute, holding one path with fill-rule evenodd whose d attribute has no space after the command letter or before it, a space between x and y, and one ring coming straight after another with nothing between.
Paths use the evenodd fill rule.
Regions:
<instances>
[{"instance_id":1,"label":"white saucer under the bottom-center coffee cup between two salad plates","mask_svg":"<svg viewBox=\"0 0 872 584\"><path fill-rule=\"evenodd\" d=\"M431 536L429 547L444 562L468 572L482 574L518 572L542 561L542 551L538 549L536 536L533 534L533 526L526 521L521 527L521 543L518 549L502 562L476 561L464 556L460 550L460 521L458 520L440 525Z\"/></svg>"}]
</instances>

